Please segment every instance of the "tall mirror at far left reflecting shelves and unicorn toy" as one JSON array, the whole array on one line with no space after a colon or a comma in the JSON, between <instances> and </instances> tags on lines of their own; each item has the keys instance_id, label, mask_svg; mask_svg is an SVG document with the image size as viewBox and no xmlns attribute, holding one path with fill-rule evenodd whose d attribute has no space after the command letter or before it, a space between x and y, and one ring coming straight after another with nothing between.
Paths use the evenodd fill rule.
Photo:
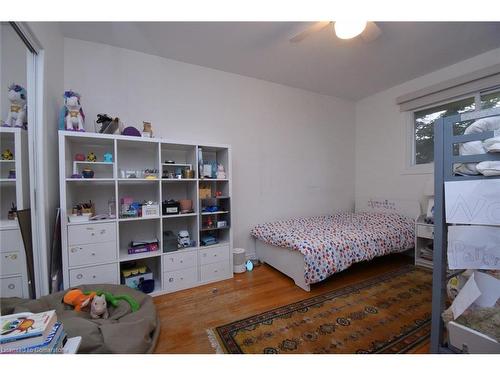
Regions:
<instances>
[{"instance_id":1,"label":"tall mirror at far left reflecting shelves and unicorn toy","mask_svg":"<svg viewBox=\"0 0 500 375\"><path fill-rule=\"evenodd\" d=\"M9 23L0 23L0 42L0 296L34 298L27 131L32 53Z\"/></svg>"}]
</instances>

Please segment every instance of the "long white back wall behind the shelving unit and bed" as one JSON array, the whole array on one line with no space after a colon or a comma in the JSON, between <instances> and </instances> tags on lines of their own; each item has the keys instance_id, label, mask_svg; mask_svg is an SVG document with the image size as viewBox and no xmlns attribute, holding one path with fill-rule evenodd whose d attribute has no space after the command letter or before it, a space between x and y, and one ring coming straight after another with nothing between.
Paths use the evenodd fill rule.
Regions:
<instances>
[{"instance_id":1,"label":"long white back wall behind the shelving unit and bed","mask_svg":"<svg viewBox=\"0 0 500 375\"><path fill-rule=\"evenodd\" d=\"M291 216L351 209L354 104L304 90L104 44L64 41L64 86L97 113L157 137L233 148L235 246L250 229Z\"/></svg>"}]
</instances>

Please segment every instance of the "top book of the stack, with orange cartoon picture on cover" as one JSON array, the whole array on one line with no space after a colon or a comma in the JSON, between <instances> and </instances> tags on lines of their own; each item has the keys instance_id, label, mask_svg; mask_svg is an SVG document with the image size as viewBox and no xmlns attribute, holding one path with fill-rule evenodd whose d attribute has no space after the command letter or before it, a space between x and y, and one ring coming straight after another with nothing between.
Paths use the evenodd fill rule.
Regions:
<instances>
[{"instance_id":1,"label":"top book of the stack, with orange cartoon picture on cover","mask_svg":"<svg viewBox=\"0 0 500 375\"><path fill-rule=\"evenodd\" d=\"M17 313L1 317L0 347L2 350L40 345L57 322L55 310L41 313Z\"/></svg>"}]
</instances>

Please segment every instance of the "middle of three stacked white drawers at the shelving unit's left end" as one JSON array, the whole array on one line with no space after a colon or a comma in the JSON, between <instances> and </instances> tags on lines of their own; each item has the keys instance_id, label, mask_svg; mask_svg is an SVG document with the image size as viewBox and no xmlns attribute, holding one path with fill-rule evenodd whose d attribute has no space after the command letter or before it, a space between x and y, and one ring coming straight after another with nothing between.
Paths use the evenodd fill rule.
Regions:
<instances>
[{"instance_id":1,"label":"middle of three stacked white drawers at the shelving unit's left end","mask_svg":"<svg viewBox=\"0 0 500 375\"><path fill-rule=\"evenodd\" d=\"M116 260L116 242L73 245L68 248L70 267Z\"/></svg>"}]
</instances>

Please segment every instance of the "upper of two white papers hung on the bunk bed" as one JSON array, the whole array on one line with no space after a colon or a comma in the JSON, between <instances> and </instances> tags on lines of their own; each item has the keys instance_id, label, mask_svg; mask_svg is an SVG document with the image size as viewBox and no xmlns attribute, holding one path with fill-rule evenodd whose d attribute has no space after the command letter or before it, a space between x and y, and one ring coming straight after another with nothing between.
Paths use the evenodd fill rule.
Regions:
<instances>
[{"instance_id":1,"label":"upper of two white papers hung on the bunk bed","mask_svg":"<svg viewBox=\"0 0 500 375\"><path fill-rule=\"evenodd\" d=\"M446 222L500 225L500 179L447 181Z\"/></svg>"}]
</instances>

